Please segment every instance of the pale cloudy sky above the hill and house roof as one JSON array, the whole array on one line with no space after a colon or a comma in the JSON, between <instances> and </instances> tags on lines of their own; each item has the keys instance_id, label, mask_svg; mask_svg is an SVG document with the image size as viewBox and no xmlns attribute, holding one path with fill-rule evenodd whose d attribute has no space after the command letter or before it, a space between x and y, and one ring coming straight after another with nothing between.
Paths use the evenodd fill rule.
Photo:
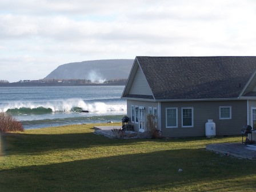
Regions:
<instances>
[{"instance_id":1,"label":"pale cloudy sky above the hill and house roof","mask_svg":"<svg viewBox=\"0 0 256 192\"><path fill-rule=\"evenodd\" d=\"M0 80L136 56L256 56L255 0L1 0Z\"/></svg>"}]
</instances>

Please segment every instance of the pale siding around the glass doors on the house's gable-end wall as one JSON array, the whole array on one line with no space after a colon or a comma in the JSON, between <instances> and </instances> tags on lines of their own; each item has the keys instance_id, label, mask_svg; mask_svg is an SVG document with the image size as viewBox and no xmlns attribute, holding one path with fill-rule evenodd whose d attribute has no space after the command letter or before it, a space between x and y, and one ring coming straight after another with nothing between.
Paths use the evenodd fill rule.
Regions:
<instances>
[{"instance_id":1,"label":"pale siding around the glass doors on the house's gable-end wall","mask_svg":"<svg viewBox=\"0 0 256 192\"><path fill-rule=\"evenodd\" d=\"M132 105L145 107L145 125L146 125L147 115L149 114L149 107L158 107L157 102L134 101L134 100L127 99L127 117L129 117L130 120L131 120L131 106ZM134 126L135 131L139 130L138 123L132 123L132 122L129 122L129 123Z\"/></svg>"}]
</instances>

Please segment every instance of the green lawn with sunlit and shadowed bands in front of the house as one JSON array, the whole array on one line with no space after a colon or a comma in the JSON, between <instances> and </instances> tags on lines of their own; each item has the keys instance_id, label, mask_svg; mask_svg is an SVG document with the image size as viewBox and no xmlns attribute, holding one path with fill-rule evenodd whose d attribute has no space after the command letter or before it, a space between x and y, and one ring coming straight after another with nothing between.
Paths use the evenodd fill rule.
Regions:
<instances>
[{"instance_id":1,"label":"green lawn with sunlit and shadowed bands in front of the house","mask_svg":"<svg viewBox=\"0 0 256 192\"><path fill-rule=\"evenodd\" d=\"M256 162L205 150L241 137L109 139L93 126L2 134L0 191L256 189Z\"/></svg>"}]
</instances>

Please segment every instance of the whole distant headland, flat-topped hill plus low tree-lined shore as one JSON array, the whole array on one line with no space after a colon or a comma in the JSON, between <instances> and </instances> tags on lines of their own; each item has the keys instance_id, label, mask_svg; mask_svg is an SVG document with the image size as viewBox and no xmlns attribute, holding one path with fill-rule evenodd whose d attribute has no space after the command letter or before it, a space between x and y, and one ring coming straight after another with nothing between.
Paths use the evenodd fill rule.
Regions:
<instances>
[{"instance_id":1,"label":"whole distant headland, flat-topped hill plus low tree-lined shore","mask_svg":"<svg viewBox=\"0 0 256 192\"><path fill-rule=\"evenodd\" d=\"M0 80L0 87L126 85L133 62L134 59L103 59L67 63L43 79L13 83Z\"/></svg>"}]
</instances>

